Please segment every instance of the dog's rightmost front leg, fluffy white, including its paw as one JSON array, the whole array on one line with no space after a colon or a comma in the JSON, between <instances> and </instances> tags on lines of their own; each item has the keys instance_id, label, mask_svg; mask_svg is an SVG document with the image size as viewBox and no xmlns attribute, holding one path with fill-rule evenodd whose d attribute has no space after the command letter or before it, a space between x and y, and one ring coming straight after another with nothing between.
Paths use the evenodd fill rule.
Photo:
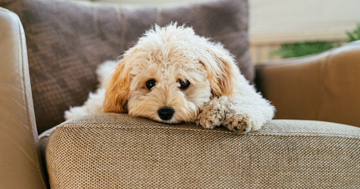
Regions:
<instances>
[{"instance_id":1,"label":"dog's rightmost front leg, fluffy white, including its paw","mask_svg":"<svg viewBox=\"0 0 360 189\"><path fill-rule=\"evenodd\" d=\"M226 119L222 123L238 134L255 131L274 117L274 107L255 91L251 95L237 95L230 100Z\"/></svg>"}]
</instances>

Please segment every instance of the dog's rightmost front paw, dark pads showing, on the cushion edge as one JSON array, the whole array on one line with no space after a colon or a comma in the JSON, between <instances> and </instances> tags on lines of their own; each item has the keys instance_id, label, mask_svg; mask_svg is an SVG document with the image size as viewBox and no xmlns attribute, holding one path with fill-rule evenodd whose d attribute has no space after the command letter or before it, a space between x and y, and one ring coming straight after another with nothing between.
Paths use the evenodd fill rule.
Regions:
<instances>
[{"instance_id":1,"label":"dog's rightmost front paw, dark pads showing, on the cushion edge","mask_svg":"<svg viewBox=\"0 0 360 189\"><path fill-rule=\"evenodd\" d=\"M223 125L229 130L235 131L237 134L246 134L253 131L254 128L249 116L234 113L226 115L226 120Z\"/></svg>"}]
</instances>

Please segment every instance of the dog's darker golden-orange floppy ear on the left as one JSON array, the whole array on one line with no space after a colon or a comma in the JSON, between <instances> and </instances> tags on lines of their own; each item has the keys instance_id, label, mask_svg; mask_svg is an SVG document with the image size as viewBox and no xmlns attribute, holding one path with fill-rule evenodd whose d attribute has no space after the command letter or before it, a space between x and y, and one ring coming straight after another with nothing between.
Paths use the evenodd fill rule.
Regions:
<instances>
[{"instance_id":1,"label":"dog's darker golden-orange floppy ear on the left","mask_svg":"<svg viewBox=\"0 0 360 189\"><path fill-rule=\"evenodd\" d=\"M127 99L131 82L130 68L126 67L126 57L114 69L106 86L104 112L125 113L127 112Z\"/></svg>"}]
</instances>

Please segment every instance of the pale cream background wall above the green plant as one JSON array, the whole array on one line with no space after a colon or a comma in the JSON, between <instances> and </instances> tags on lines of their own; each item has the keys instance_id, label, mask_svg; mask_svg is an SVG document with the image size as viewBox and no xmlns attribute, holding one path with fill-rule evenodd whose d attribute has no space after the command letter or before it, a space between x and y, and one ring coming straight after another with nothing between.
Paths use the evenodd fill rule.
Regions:
<instances>
[{"instance_id":1,"label":"pale cream background wall above the green plant","mask_svg":"<svg viewBox=\"0 0 360 189\"><path fill-rule=\"evenodd\" d=\"M262 62L283 43L346 42L360 23L360 0L249 0L252 57Z\"/></svg>"}]
</instances>

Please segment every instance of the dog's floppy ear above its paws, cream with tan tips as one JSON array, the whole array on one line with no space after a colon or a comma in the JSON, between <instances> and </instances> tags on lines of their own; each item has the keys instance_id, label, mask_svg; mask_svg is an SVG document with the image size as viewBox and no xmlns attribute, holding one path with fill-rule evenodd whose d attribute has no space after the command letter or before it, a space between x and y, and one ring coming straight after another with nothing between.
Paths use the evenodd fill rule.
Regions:
<instances>
[{"instance_id":1,"label":"dog's floppy ear above its paws, cream with tan tips","mask_svg":"<svg viewBox=\"0 0 360 189\"><path fill-rule=\"evenodd\" d=\"M199 59L207 71L212 94L232 96L235 76L239 72L233 55L221 44L211 43Z\"/></svg>"}]
</instances>

